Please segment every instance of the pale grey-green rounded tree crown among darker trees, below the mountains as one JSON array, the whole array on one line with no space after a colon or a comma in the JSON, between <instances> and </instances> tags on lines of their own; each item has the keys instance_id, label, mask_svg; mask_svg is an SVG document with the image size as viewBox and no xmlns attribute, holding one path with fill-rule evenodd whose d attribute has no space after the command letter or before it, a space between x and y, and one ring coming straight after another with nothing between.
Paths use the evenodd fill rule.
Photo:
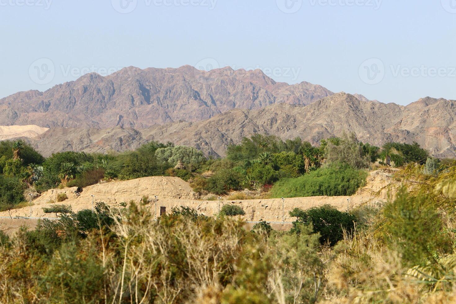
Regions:
<instances>
[{"instance_id":1,"label":"pale grey-green rounded tree crown among darker trees, below the mountains","mask_svg":"<svg viewBox=\"0 0 456 304\"><path fill-rule=\"evenodd\" d=\"M191 165L202 164L206 161L206 157L201 151L186 146L160 148L155 151L155 155L159 161L167 162L172 166L177 165L179 161Z\"/></svg>"}]
</instances>

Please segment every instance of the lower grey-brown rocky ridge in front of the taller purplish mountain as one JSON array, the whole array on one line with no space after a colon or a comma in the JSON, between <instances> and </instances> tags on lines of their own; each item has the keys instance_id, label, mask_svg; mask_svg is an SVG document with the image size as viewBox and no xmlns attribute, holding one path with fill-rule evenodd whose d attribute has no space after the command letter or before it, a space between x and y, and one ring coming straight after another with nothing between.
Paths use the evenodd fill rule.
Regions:
<instances>
[{"instance_id":1,"label":"lower grey-brown rocky ridge in front of the taller purplish mountain","mask_svg":"<svg viewBox=\"0 0 456 304\"><path fill-rule=\"evenodd\" d=\"M170 140L207 155L223 156L229 144L257 133L282 139L301 137L318 144L321 139L353 131L371 144L416 141L436 156L456 157L455 117L455 100L427 97L404 107L359 100L342 92L306 106L277 103L259 109L235 108L204 121L178 121L145 129L52 128L31 143L49 155L64 150L122 151L150 140Z\"/></svg>"}]
</instances>

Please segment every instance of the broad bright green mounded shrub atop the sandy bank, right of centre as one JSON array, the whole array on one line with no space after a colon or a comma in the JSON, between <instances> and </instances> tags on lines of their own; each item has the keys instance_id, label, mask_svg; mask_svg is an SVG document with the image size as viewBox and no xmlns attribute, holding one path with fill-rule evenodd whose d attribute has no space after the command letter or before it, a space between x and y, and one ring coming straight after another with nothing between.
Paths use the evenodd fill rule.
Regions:
<instances>
[{"instance_id":1,"label":"broad bright green mounded shrub atop the sandy bank, right of centre","mask_svg":"<svg viewBox=\"0 0 456 304\"><path fill-rule=\"evenodd\" d=\"M271 197L351 196L365 185L367 172L347 164L333 163L298 178L279 180Z\"/></svg>"}]
</instances>

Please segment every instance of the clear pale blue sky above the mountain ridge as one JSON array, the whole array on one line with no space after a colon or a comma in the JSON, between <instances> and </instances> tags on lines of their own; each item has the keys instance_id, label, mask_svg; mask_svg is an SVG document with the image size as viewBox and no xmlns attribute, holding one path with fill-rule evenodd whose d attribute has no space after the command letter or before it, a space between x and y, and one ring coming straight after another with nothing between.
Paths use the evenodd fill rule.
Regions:
<instances>
[{"instance_id":1,"label":"clear pale blue sky above the mountain ridge","mask_svg":"<svg viewBox=\"0 0 456 304\"><path fill-rule=\"evenodd\" d=\"M456 99L456 0L0 0L0 98L122 67Z\"/></svg>"}]
</instances>

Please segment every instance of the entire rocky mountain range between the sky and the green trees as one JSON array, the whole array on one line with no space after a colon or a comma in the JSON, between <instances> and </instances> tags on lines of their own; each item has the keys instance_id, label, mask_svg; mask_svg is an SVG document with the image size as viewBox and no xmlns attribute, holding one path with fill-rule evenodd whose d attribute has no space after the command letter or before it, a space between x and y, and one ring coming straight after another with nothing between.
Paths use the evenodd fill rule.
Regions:
<instances>
[{"instance_id":1,"label":"entire rocky mountain range between the sky and the green trees","mask_svg":"<svg viewBox=\"0 0 456 304\"><path fill-rule=\"evenodd\" d=\"M385 104L309 82L275 82L261 70L128 67L2 98L0 125L50 128L27 139L44 155L123 151L159 140L217 157L255 133L318 144L353 131L371 144L416 141L435 156L456 157L455 105L430 97Z\"/></svg>"}]
</instances>

